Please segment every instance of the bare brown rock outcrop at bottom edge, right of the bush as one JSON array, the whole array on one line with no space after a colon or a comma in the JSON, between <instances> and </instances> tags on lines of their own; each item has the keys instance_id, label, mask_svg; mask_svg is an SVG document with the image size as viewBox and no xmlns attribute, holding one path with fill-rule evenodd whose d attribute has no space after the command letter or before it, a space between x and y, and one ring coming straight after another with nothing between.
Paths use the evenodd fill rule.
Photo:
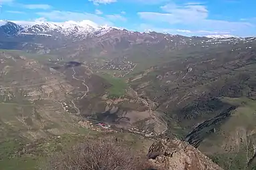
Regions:
<instances>
[{"instance_id":1,"label":"bare brown rock outcrop at bottom edge, right of the bush","mask_svg":"<svg viewBox=\"0 0 256 170\"><path fill-rule=\"evenodd\" d=\"M160 139L148 151L153 165L166 170L222 170L198 149L178 139Z\"/></svg>"}]
</instances>

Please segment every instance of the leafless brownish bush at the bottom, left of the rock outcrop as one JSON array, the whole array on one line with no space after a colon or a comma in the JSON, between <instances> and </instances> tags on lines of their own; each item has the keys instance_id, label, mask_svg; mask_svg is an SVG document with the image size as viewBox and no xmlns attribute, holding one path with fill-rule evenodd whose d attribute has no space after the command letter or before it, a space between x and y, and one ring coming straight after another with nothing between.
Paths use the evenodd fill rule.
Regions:
<instances>
[{"instance_id":1,"label":"leafless brownish bush at the bottom, left of the rock outcrop","mask_svg":"<svg viewBox=\"0 0 256 170\"><path fill-rule=\"evenodd\" d=\"M144 161L143 161L144 160ZM49 170L137 170L151 169L129 148L112 140L86 141L50 157Z\"/></svg>"}]
</instances>

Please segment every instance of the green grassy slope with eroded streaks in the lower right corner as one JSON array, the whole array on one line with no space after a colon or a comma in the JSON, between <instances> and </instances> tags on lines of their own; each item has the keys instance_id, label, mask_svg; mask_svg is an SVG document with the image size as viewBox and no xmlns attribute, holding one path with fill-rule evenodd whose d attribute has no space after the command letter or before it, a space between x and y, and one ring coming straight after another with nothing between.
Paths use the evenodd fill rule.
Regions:
<instances>
[{"instance_id":1,"label":"green grassy slope with eroded streaks in the lower right corner","mask_svg":"<svg viewBox=\"0 0 256 170\"><path fill-rule=\"evenodd\" d=\"M238 107L217 133L201 143L199 149L225 169L244 169L255 154L256 101L246 97L225 97L222 100Z\"/></svg>"}]
</instances>

